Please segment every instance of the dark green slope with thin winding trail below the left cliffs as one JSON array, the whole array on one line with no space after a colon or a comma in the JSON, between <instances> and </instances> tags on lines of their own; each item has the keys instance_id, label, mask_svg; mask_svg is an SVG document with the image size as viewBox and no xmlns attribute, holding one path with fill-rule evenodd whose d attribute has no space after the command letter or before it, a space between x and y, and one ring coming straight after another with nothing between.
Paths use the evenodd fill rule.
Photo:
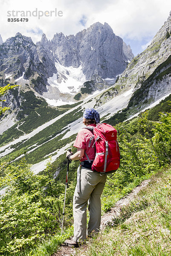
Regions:
<instances>
[{"instance_id":1,"label":"dark green slope with thin winding trail below the left cliffs","mask_svg":"<svg viewBox=\"0 0 171 256\"><path fill-rule=\"evenodd\" d=\"M12 93L17 99L17 89L13 90ZM0 136L0 146L11 142L23 134L30 133L49 120L81 104L81 102L77 102L73 105L50 107L43 98L37 98L32 91L26 91L25 93L21 91L20 96L22 97L22 101L20 108L17 110L17 119L19 121L7 131L3 132Z\"/></svg>"}]
</instances>

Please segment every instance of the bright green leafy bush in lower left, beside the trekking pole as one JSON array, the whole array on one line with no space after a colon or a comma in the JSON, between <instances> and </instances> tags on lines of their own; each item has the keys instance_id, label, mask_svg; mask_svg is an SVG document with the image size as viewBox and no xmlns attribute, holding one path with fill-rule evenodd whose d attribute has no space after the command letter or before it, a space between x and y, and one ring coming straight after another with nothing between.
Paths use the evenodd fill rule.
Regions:
<instances>
[{"instance_id":1,"label":"bright green leafy bush in lower left, beside the trekking pole","mask_svg":"<svg viewBox=\"0 0 171 256\"><path fill-rule=\"evenodd\" d=\"M0 253L14 255L27 250L42 239L60 232L64 184L55 182L50 172L50 163L44 175L34 175L29 165L22 160L17 168L6 168L9 187L0 200ZM68 188L67 200L73 193ZM67 227L70 218L65 218Z\"/></svg>"}]
</instances>

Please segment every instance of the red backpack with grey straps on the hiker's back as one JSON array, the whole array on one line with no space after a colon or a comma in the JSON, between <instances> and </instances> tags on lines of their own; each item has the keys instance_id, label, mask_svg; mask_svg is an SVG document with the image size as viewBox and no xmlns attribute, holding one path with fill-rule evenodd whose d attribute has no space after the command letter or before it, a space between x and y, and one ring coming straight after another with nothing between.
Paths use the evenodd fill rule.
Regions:
<instances>
[{"instance_id":1,"label":"red backpack with grey straps on the hiker's back","mask_svg":"<svg viewBox=\"0 0 171 256\"><path fill-rule=\"evenodd\" d=\"M92 164L92 170L103 173L116 172L120 165L120 151L116 129L106 123L97 124L96 127L86 127L84 129L89 129L93 132L94 144L96 145L96 157ZM91 145L91 139L89 147L94 147L94 144ZM90 162L87 154L86 157Z\"/></svg>"}]
</instances>

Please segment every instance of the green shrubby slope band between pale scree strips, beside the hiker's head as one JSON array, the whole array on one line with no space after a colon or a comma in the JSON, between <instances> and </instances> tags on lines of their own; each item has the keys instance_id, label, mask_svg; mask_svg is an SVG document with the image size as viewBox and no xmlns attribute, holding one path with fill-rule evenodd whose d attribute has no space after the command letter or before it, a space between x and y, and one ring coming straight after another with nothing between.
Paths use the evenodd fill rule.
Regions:
<instances>
[{"instance_id":1,"label":"green shrubby slope band between pale scree strips, beside the hiker's head","mask_svg":"<svg viewBox=\"0 0 171 256\"><path fill-rule=\"evenodd\" d=\"M23 154L24 152L27 153L32 148L35 148L35 150L26 155L28 163L34 164L48 158L49 156L46 155L52 153L58 148L63 147L75 139L76 135L73 134L70 138L62 140L62 137L64 137L66 132L63 134L60 133L65 130L67 125L69 125L71 122L74 122L81 116L82 111L80 108L68 113L67 115L54 122L52 125L44 128L38 134L35 134L35 136L31 137L30 139L12 145L14 151L12 151L12 153L8 154L4 158L6 159L8 157L13 157L18 154ZM36 148L36 146L39 147ZM45 156L46 158L44 158Z\"/></svg>"}]
</instances>

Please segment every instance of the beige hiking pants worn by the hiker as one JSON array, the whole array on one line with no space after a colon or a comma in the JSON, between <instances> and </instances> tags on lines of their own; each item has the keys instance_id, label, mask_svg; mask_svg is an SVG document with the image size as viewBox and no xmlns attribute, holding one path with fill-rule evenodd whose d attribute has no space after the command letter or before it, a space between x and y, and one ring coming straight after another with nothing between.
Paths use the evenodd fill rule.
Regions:
<instances>
[{"instance_id":1,"label":"beige hiking pants worn by the hiker","mask_svg":"<svg viewBox=\"0 0 171 256\"><path fill-rule=\"evenodd\" d=\"M94 230L99 232L101 222L101 194L104 189L107 175L93 172L81 167L80 185L75 188L73 197L74 216L74 237L73 240L85 241L88 235ZM77 184L78 185L78 184ZM87 227L87 203L89 200L90 220ZM87 232L86 232L87 231Z\"/></svg>"}]
</instances>

